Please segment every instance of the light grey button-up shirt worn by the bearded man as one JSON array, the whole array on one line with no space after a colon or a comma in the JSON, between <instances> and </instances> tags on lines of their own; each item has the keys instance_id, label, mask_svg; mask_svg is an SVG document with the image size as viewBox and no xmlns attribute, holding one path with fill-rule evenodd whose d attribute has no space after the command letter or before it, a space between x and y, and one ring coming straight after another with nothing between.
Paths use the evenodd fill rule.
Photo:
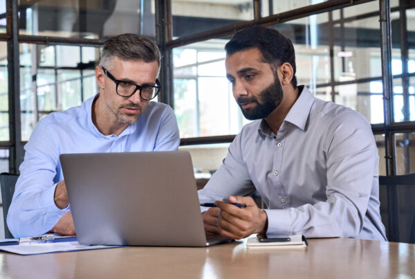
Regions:
<instances>
[{"instance_id":1,"label":"light grey button-up shirt worn by the bearded man","mask_svg":"<svg viewBox=\"0 0 415 279\"><path fill-rule=\"evenodd\" d=\"M301 90L277 134L265 120L243 127L199 190L200 201L258 190L268 235L386 240L371 126L356 111Z\"/></svg>"}]
</instances>

